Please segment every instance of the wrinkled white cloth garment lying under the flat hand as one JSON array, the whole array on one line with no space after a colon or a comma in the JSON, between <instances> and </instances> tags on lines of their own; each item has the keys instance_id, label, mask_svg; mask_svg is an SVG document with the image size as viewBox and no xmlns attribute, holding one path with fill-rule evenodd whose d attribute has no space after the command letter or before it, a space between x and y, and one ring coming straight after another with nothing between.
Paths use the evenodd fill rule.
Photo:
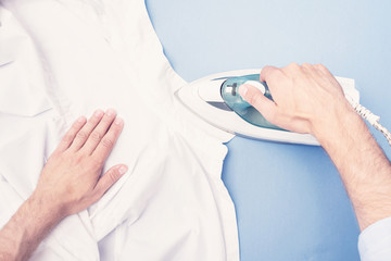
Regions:
<instances>
[{"instance_id":1,"label":"wrinkled white cloth garment lying under the flat hand","mask_svg":"<svg viewBox=\"0 0 391 261\"><path fill-rule=\"evenodd\" d=\"M0 227L81 114L125 128L106 167L129 172L68 216L31 260L238 260L220 179L231 138L186 110L142 0L4 0L0 7Z\"/></svg>"}]
</instances>

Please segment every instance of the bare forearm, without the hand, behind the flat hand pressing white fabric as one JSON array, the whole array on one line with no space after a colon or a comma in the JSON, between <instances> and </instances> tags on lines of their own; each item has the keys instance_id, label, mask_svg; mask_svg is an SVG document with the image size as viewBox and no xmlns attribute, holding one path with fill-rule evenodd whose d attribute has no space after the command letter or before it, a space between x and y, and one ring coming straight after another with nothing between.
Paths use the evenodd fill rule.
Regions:
<instances>
[{"instance_id":1,"label":"bare forearm, without the hand, behind the flat hand pressing white fabric","mask_svg":"<svg viewBox=\"0 0 391 261\"><path fill-rule=\"evenodd\" d=\"M34 194L0 231L0 261L27 260L62 214Z\"/></svg>"}]
</instances>

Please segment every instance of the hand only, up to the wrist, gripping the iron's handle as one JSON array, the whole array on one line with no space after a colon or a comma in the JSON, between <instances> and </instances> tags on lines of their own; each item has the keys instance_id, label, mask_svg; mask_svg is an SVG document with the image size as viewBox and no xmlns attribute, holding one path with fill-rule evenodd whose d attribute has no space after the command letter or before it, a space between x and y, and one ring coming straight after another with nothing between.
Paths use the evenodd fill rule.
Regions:
<instances>
[{"instance_id":1,"label":"hand only, up to the wrist, gripping the iron's handle","mask_svg":"<svg viewBox=\"0 0 391 261\"><path fill-rule=\"evenodd\" d=\"M341 112L355 114L340 84L321 64L265 66L261 80L267 83L274 102L252 86L241 86L239 91L267 121L282 128L318 136Z\"/></svg>"}]
</instances>

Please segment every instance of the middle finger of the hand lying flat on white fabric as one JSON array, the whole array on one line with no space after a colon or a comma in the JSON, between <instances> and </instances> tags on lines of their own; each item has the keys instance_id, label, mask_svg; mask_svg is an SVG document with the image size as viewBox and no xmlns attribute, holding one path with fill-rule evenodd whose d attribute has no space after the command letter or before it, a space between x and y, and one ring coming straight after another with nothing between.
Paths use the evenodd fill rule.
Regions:
<instances>
[{"instance_id":1,"label":"middle finger of the hand lying flat on white fabric","mask_svg":"<svg viewBox=\"0 0 391 261\"><path fill-rule=\"evenodd\" d=\"M86 144L83 146L83 150L88 154L91 154L93 150L97 148L103 136L106 134L111 124L114 122L116 116L116 112L113 109L109 109L102 120L99 122L98 126L92 130L90 136L88 137Z\"/></svg>"}]
</instances>

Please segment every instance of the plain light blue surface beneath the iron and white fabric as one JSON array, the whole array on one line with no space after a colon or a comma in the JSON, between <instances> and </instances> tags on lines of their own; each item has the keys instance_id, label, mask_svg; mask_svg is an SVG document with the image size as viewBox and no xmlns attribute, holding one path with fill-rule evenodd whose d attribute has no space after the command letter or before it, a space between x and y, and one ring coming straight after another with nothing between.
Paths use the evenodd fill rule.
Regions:
<instances>
[{"instance_id":1,"label":"plain light blue surface beneath the iron and white fabric","mask_svg":"<svg viewBox=\"0 0 391 261\"><path fill-rule=\"evenodd\" d=\"M323 63L355 78L362 104L391 128L389 0L147 0L147 7L186 80L267 64ZM390 157L384 138L375 136ZM228 148L223 179L237 209L241 260L360 259L354 212L321 148L239 137Z\"/></svg>"}]
</instances>

